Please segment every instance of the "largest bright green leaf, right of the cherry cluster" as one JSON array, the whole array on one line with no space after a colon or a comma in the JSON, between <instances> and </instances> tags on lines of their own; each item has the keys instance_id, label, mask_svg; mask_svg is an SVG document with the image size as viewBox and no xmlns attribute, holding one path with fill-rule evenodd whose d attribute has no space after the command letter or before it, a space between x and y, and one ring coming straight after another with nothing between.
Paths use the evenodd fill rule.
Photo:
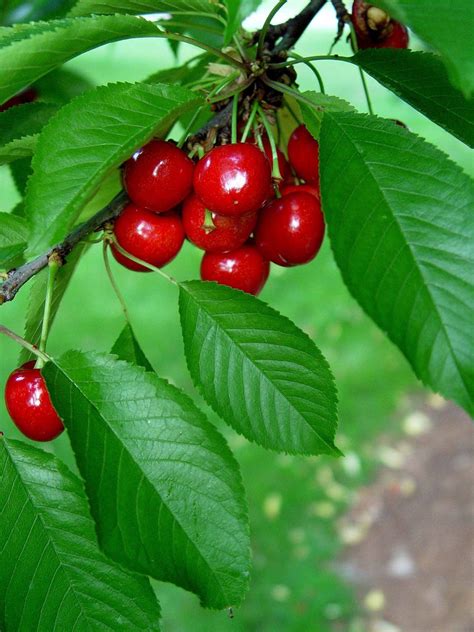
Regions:
<instances>
[{"instance_id":1,"label":"largest bright green leaf, right of the cherry cluster","mask_svg":"<svg viewBox=\"0 0 474 632\"><path fill-rule=\"evenodd\" d=\"M350 113L323 119L320 175L349 290L425 384L472 412L472 181L414 134Z\"/></svg>"}]
</instances>

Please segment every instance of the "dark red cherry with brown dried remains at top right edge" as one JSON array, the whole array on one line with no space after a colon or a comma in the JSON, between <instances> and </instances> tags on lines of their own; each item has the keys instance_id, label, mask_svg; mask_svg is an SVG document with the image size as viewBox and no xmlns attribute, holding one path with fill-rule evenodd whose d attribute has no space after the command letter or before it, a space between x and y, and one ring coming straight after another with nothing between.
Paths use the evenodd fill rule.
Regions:
<instances>
[{"instance_id":1,"label":"dark red cherry with brown dried remains at top right edge","mask_svg":"<svg viewBox=\"0 0 474 632\"><path fill-rule=\"evenodd\" d=\"M363 0L352 4L352 24L357 46L364 48L407 48L406 27L393 20L388 13Z\"/></svg>"}]
</instances>

